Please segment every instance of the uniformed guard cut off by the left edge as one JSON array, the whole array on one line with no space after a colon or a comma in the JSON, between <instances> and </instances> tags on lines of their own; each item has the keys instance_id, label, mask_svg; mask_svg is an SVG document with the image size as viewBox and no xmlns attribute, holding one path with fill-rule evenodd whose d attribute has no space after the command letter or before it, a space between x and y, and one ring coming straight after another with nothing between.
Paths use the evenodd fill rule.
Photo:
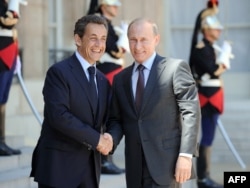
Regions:
<instances>
[{"instance_id":1,"label":"uniformed guard cut off by the left edge","mask_svg":"<svg viewBox=\"0 0 250 188\"><path fill-rule=\"evenodd\" d=\"M5 106L18 55L17 32L21 0L0 0L0 156L20 154L5 143Z\"/></svg>"}]
</instances>

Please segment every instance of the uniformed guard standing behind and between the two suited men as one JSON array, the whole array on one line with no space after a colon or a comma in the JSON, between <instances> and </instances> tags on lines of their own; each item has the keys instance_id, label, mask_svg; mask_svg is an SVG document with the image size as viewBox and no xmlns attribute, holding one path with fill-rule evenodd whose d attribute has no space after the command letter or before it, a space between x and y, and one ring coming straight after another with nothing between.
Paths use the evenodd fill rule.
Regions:
<instances>
[{"instance_id":1,"label":"uniformed guard standing behind and between the two suited men","mask_svg":"<svg viewBox=\"0 0 250 188\"><path fill-rule=\"evenodd\" d=\"M99 14L105 17L108 22L108 36L106 50L96 67L105 74L110 84L115 74L120 72L124 66L124 54L129 50L128 41L123 36L127 35L126 26L119 29L119 34L112 24L113 18L117 16L118 8L121 6L119 0L92 0L88 14ZM102 174L121 174L125 170L117 167L112 156L102 155Z\"/></svg>"}]
</instances>

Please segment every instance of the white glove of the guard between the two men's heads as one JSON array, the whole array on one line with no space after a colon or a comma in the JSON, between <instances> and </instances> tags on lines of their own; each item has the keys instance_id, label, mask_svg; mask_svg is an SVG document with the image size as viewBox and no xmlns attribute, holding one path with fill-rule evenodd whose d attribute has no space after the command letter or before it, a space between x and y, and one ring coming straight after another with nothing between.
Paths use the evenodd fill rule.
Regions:
<instances>
[{"instance_id":1,"label":"white glove of the guard between the two men's heads","mask_svg":"<svg viewBox=\"0 0 250 188\"><path fill-rule=\"evenodd\" d=\"M126 52L130 52L128 43L128 23L122 21L120 27L115 27L116 32L119 34L119 39L117 41L117 46L122 47Z\"/></svg>"}]
</instances>

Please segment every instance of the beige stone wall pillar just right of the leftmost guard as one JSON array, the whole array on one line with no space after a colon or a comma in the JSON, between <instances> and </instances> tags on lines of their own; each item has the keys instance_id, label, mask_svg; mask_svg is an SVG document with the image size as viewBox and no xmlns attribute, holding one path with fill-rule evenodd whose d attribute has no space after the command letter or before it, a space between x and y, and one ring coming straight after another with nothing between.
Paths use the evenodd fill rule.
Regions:
<instances>
[{"instance_id":1,"label":"beige stone wall pillar just right of the leftmost guard","mask_svg":"<svg viewBox=\"0 0 250 188\"><path fill-rule=\"evenodd\" d=\"M48 6L47 1L28 1L20 7L17 29L22 50L22 70L25 78L41 78L47 69Z\"/></svg>"}]
</instances>

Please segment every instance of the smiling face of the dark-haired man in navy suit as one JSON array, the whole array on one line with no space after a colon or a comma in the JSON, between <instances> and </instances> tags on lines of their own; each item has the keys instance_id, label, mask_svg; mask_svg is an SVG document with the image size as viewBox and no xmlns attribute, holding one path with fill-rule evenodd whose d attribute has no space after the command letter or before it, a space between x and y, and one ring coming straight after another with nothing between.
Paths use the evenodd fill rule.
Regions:
<instances>
[{"instance_id":1,"label":"smiling face of the dark-haired man in navy suit","mask_svg":"<svg viewBox=\"0 0 250 188\"><path fill-rule=\"evenodd\" d=\"M98 61L106 48L107 29L104 25L90 23L82 38L75 35L77 50L90 64Z\"/></svg>"}]
</instances>

